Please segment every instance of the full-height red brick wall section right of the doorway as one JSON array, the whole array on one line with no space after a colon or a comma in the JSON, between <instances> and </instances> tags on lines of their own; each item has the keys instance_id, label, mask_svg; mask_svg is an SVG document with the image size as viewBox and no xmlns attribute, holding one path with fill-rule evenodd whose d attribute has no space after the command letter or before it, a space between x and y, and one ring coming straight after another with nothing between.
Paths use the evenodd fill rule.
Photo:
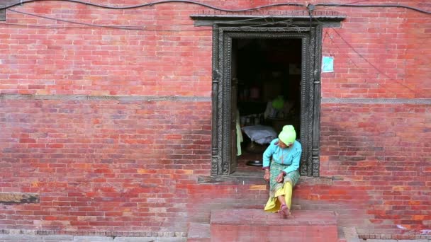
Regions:
<instances>
[{"instance_id":1,"label":"full-height red brick wall section right of the doorway","mask_svg":"<svg viewBox=\"0 0 431 242\"><path fill-rule=\"evenodd\" d=\"M425 1L421 6L430 9ZM427 234L431 108L420 100L431 98L430 15L342 9L347 13L342 27L323 33L323 55L335 58L335 72L322 74L320 122L321 175L340 180L304 188L299 197L331 201L308 207L338 210L345 224L362 219L359 234Z\"/></svg>"}]
</instances>

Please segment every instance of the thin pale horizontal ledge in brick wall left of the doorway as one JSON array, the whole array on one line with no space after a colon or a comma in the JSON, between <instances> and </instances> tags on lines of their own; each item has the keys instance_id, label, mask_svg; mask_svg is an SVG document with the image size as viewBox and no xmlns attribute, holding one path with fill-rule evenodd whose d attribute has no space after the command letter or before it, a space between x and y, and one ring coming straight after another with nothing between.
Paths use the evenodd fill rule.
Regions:
<instances>
[{"instance_id":1,"label":"thin pale horizontal ledge in brick wall left of the doorway","mask_svg":"<svg viewBox=\"0 0 431 242\"><path fill-rule=\"evenodd\" d=\"M118 101L147 101L147 102L151 102L151 101L210 102L211 97L0 94L0 100L118 100Z\"/></svg>"}]
</instances>

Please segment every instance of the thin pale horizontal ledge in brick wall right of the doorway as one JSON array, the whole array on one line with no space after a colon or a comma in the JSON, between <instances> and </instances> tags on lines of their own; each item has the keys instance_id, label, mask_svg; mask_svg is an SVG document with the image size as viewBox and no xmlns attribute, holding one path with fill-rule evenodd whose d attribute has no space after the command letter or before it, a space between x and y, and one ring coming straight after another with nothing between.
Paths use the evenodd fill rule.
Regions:
<instances>
[{"instance_id":1,"label":"thin pale horizontal ledge in brick wall right of the doorway","mask_svg":"<svg viewBox=\"0 0 431 242\"><path fill-rule=\"evenodd\" d=\"M426 104L431 98L322 98L321 103L364 103L364 104Z\"/></svg>"}]
</instances>

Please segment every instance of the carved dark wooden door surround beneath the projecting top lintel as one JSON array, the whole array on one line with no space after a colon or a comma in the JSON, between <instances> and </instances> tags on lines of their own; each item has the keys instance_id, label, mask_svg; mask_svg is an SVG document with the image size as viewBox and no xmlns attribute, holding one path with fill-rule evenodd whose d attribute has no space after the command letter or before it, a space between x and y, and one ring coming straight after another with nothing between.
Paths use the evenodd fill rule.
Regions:
<instances>
[{"instance_id":1,"label":"carved dark wooden door surround beneath the projecting top lintel","mask_svg":"<svg viewBox=\"0 0 431 242\"><path fill-rule=\"evenodd\" d=\"M230 68L233 38L301 38L301 175L319 175L320 53L322 27L243 27L213 25L213 156L211 175L229 175L230 162Z\"/></svg>"}]
</instances>

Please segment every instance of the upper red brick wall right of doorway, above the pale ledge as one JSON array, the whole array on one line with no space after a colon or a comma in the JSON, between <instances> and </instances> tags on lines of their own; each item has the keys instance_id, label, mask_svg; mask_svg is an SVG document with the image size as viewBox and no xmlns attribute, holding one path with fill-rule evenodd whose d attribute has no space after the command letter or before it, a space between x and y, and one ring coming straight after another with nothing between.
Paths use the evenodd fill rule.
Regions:
<instances>
[{"instance_id":1,"label":"upper red brick wall right of doorway, above the pale ledge","mask_svg":"<svg viewBox=\"0 0 431 242\"><path fill-rule=\"evenodd\" d=\"M429 14L398 8L337 10L345 10L347 18L341 28L323 31L323 55L335 57L335 72L322 75L323 97L430 98Z\"/></svg>"}]
</instances>

